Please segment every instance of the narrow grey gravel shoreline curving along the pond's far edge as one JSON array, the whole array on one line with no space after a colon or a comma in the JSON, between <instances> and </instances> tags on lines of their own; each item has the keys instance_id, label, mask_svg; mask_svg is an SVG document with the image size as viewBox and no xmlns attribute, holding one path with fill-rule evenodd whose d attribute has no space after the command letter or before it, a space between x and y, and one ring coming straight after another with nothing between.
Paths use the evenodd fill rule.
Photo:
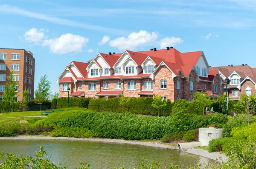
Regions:
<instances>
[{"instance_id":1,"label":"narrow grey gravel shoreline curving along the pond's far edge","mask_svg":"<svg viewBox=\"0 0 256 169\"><path fill-rule=\"evenodd\" d=\"M177 150L177 147L170 146L161 143L153 143L149 141L131 141L131 140L120 140L120 139L108 139L108 138L70 138L70 137L50 137L50 136L15 136L15 137L0 137L0 140L74 140L74 141L96 141L96 142L105 142L105 143L121 143L121 144L134 144L140 146L151 146L157 148L164 148L164 149L172 149ZM218 162L226 162L227 156L221 154L219 152L208 152L207 150L203 149L187 149L185 151L189 154L198 155L201 157L209 158Z\"/></svg>"}]
</instances>

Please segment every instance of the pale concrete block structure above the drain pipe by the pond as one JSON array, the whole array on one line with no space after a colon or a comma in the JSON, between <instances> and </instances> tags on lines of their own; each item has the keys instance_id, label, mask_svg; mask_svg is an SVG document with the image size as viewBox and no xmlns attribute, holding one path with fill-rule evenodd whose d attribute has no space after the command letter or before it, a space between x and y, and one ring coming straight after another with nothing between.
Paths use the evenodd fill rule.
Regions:
<instances>
[{"instance_id":1,"label":"pale concrete block structure above the drain pipe by the pond","mask_svg":"<svg viewBox=\"0 0 256 169\"><path fill-rule=\"evenodd\" d=\"M199 142L202 146L208 146L209 141L216 138L221 138L223 129L215 128L200 128L199 129Z\"/></svg>"}]
</instances>

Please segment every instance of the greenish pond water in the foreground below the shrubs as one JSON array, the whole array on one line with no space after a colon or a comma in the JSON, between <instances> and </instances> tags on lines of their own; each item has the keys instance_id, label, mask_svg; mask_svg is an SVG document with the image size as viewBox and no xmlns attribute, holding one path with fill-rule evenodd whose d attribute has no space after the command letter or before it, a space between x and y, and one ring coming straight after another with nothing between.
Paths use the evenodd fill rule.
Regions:
<instances>
[{"instance_id":1,"label":"greenish pond water in the foreground below the shrubs","mask_svg":"<svg viewBox=\"0 0 256 169\"><path fill-rule=\"evenodd\" d=\"M0 152L16 155L35 155L39 146L50 156L52 162L60 162L68 168L79 166L79 162L90 163L92 169L113 169L125 166L136 167L143 156L146 161L155 160L165 166L175 164L205 165L211 160L177 150L138 146L131 144L102 143L67 140L0 140Z\"/></svg>"}]
</instances>

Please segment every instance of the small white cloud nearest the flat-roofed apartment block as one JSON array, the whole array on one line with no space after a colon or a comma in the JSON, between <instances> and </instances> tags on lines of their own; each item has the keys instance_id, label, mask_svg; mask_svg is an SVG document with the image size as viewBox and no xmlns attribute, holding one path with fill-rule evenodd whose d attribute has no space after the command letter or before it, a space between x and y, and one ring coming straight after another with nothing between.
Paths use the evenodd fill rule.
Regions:
<instances>
[{"instance_id":1,"label":"small white cloud nearest the flat-roofed apartment block","mask_svg":"<svg viewBox=\"0 0 256 169\"><path fill-rule=\"evenodd\" d=\"M44 29L38 30L37 28L32 28L29 31L26 31L23 37L25 37L25 41L38 43L44 39L43 31Z\"/></svg>"}]
</instances>

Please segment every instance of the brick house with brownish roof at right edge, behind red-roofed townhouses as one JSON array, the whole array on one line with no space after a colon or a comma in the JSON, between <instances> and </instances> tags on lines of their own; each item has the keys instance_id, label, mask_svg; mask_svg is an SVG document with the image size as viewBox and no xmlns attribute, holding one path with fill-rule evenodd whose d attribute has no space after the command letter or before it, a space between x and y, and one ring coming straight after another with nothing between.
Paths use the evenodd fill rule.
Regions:
<instances>
[{"instance_id":1,"label":"brick house with brownish roof at right edge, behind red-roofed townhouses","mask_svg":"<svg viewBox=\"0 0 256 169\"><path fill-rule=\"evenodd\" d=\"M227 95L230 99L240 100L241 93L246 93L247 96L256 94L256 68L242 64L211 67L210 69L217 70L222 79L230 79L230 84L227 85ZM224 93L226 93L226 85Z\"/></svg>"}]
</instances>

